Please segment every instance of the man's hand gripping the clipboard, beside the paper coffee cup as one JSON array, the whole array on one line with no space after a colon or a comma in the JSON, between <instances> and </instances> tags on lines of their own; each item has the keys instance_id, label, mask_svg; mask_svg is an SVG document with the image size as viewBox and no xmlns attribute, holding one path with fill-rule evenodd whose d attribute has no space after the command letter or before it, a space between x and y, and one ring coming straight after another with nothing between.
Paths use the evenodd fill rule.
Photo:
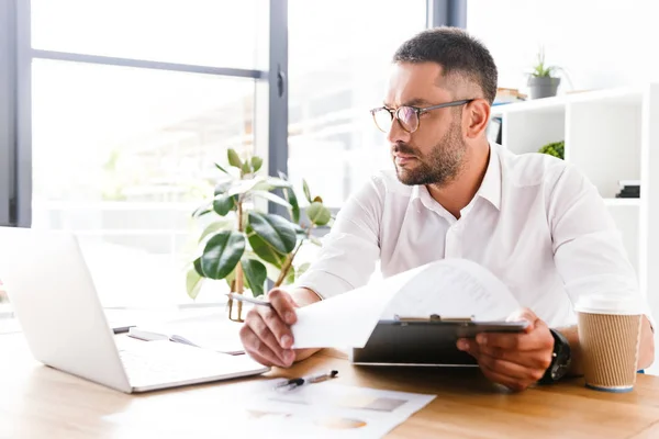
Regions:
<instances>
[{"instance_id":1,"label":"man's hand gripping the clipboard, beside the paper coffee cup","mask_svg":"<svg viewBox=\"0 0 659 439\"><path fill-rule=\"evenodd\" d=\"M509 320L527 320L524 333L479 334L458 340L458 349L469 352L490 380L514 391L523 391L543 378L551 363L554 337L545 322L524 308Z\"/></svg>"}]
</instances>

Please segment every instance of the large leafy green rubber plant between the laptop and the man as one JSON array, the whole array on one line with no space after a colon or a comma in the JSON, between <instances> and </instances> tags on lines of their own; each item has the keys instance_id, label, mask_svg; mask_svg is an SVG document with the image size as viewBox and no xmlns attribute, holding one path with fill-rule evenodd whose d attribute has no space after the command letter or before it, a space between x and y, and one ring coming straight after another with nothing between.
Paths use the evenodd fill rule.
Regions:
<instances>
[{"instance_id":1,"label":"large leafy green rubber plant between the laptop and the man","mask_svg":"<svg viewBox=\"0 0 659 439\"><path fill-rule=\"evenodd\" d=\"M303 180L306 206L301 209L292 184L283 173L259 175L263 159L242 159L234 149L227 151L228 167L219 164L221 178L211 200L192 216L205 226L199 237L199 256L188 270L188 295L196 299L205 280L224 279L232 292L265 293L268 279L273 286L292 283L309 263L295 264L295 256L305 243L320 246L312 236L317 226L331 225L330 210L320 196L312 198ZM283 196L275 193L281 190ZM259 200L287 209L278 215L259 209ZM202 218L203 217L203 218ZM243 322L243 303L230 299L230 319Z\"/></svg>"}]
</instances>

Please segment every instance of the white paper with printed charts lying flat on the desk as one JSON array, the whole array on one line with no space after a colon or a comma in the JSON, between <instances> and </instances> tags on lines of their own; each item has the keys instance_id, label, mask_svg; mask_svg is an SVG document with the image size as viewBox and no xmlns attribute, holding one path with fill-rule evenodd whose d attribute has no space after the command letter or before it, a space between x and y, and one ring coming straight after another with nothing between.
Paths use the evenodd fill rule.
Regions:
<instances>
[{"instance_id":1,"label":"white paper with printed charts lying flat on the desk","mask_svg":"<svg viewBox=\"0 0 659 439\"><path fill-rule=\"evenodd\" d=\"M232 385L217 397L211 386L177 393L176 398L135 398L130 410L103 420L125 436L148 426L153 437L381 438L435 398L339 380L340 372L338 379L293 391L277 391L275 384L281 380L267 380Z\"/></svg>"}]
</instances>

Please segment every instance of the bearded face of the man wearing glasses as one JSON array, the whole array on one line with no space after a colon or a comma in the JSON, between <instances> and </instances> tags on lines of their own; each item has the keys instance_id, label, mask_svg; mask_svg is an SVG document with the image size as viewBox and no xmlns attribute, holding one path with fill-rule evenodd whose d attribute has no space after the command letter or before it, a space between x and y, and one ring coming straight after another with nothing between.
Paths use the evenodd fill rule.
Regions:
<instances>
[{"instance_id":1,"label":"bearded face of the man wearing glasses","mask_svg":"<svg viewBox=\"0 0 659 439\"><path fill-rule=\"evenodd\" d=\"M443 82L442 66L435 63L396 63L384 106L427 108L465 98L455 97ZM413 133L393 121L387 138L402 183L444 185L459 175L467 150L461 114L462 106L431 110L420 116L418 128Z\"/></svg>"}]
</instances>

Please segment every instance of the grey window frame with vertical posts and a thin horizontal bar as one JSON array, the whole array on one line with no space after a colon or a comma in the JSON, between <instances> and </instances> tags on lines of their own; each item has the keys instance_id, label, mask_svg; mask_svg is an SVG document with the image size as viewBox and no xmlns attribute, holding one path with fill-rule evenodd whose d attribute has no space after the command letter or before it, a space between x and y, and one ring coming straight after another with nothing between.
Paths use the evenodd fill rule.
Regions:
<instances>
[{"instance_id":1,"label":"grey window frame with vertical posts and a thin horizontal bar","mask_svg":"<svg viewBox=\"0 0 659 439\"><path fill-rule=\"evenodd\" d=\"M211 67L150 61L32 48L30 0L0 1L0 226L32 224L32 61L60 61L123 66L213 75L255 80L255 153L264 157L269 175L288 173L288 0L264 0L267 4L267 54L263 69ZM465 27L467 0L426 0L427 27ZM283 214L269 203L268 210ZM333 207L335 215L339 207ZM327 228L317 234L324 235Z\"/></svg>"}]
</instances>

